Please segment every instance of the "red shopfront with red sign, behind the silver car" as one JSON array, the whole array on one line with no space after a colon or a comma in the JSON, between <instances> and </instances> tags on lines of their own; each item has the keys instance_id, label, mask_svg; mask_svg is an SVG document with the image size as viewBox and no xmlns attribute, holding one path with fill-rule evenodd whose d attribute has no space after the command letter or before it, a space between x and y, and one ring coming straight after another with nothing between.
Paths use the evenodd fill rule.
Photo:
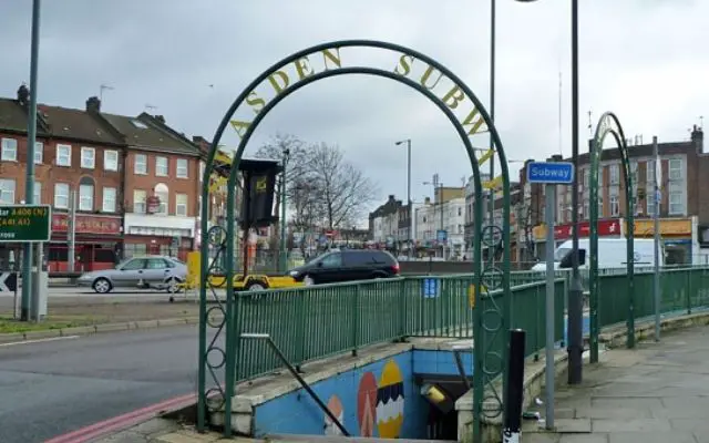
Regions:
<instances>
[{"instance_id":1,"label":"red shopfront with red sign, behind the silver car","mask_svg":"<svg viewBox=\"0 0 709 443\"><path fill-rule=\"evenodd\" d=\"M65 272L69 266L69 215L52 214L52 237L47 250L50 272ZM110 269L121 255L121 217L76 214L74 270Z\"/></svg>"}]
</instances>

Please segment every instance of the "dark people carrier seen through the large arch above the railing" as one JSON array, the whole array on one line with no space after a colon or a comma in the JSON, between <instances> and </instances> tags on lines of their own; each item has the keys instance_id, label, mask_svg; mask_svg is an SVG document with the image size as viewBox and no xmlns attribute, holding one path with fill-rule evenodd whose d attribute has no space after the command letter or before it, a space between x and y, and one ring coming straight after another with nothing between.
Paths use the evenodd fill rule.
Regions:
<instances>
[{"instance_id":1,"label":"dark people carrier seen through the large arch above the railing","mask_svg":"<svg viewBox=\"0 0 709 443\"><path fill-rule=\"evenodd\" d=\"M333 250L291 269L288 275L306 285L388 278L399 275L399 261L386 250Z\"/></svg>"}]
</instances>

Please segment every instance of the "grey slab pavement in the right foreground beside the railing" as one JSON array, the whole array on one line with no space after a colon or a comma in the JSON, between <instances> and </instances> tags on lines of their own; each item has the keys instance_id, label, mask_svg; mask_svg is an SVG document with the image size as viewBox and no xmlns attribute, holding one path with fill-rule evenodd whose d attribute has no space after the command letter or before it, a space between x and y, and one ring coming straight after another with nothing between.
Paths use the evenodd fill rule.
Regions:
<instances>
[{"instance_id":1,"label":"grey slab pavement in the right foreground beside the railing","mask_svg":"<svg viewBox=\"0 0 709 443\"><path fill-rule=\"evenodd\" d=\"M580 385L557 388L555 411L557 432L526 422L521 441L709 443L709 327L602 353Z\"/></svg>"}]
</instances>

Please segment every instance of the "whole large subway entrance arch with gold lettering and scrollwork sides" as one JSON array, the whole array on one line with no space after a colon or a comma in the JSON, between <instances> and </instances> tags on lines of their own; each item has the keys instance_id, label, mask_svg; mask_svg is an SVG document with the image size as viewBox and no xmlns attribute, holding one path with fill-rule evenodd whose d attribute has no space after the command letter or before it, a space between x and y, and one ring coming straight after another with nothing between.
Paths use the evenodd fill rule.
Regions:
<instances>
[{"instance_id":1,"label":"whole large subway entrance arch with gold lettering and scrollwork sides","mask_svg":"<svg viewBox=\"0 0 709 443\"><path fill-rule=\"evenodd\" d=\"M371 62L362 62L371 60ZM502 414L503 393L496 392L493 380L502 375L506 367L506 352L500 347L506 342L510 327L510 174L504 147L487 111L473 91L453 72L434 59L412 49L372 40L346 40L318 44L278 61L258 75L236 97L219 123L206 158L202 190L202 262L199 282L199 369L197 426L204 430L207 415L215 410L224 411L224 432L232 430L232 399L236 381L239 380L239 347L242 326L235 313L240 309L242 298L234 297L236 238L235 188L237 171L248 141L266 115L280 101L319 80L341 75L372 75L404 84L429 99L448 117L458 132L470 158L474 176L475 205L473 208L474 258L482 258L482 241L500 238L503 246L501 268L483 269L482 259L474 259L471 271L475 276L477 301L473 308L474 340L474 415L475 434L480 435L481 416L496 418ZM216 172L215 157L227 128L239 137L232 158L228 175L226 226L208 226L209 177ZM493 153L502 168L503 225L483 226L483 184L480 163L473 151L471 137L489 132ZM212 257L212 259L209 258ZM226 277L226 300L217 297L209 286L209 277ZM497 297L487 291L500 290ZM224 346L220 344L222 336ZM224 380L224 383L222 383ZM503 388L504 391L505 388ZM215 400L216 399L216 400Z\"/></svg>"}]
</instances>

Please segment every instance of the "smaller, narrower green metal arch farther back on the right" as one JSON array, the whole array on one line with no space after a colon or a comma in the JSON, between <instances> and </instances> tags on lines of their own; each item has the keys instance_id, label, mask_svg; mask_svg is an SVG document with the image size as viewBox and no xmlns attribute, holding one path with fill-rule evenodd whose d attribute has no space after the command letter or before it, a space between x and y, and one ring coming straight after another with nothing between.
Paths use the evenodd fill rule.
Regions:
<instances>
[{"instance_id":1,"label":"smaller, narrower green metal arch farther back on the right","mask_svg":"<svg viewBox=\"0 0 709 443\"><path fill-rule=\"evenodd\" d=\"M634 198L633 198L633 172L630 171L630 159L628 155L628 145L626 143L625 133L618 117L612 113L604 113L598 120L594 138L590 142L590 276L589 276L589 329L590 329L590 362L598 361L598 334L600 328L598 324L598 164L600 162L600 153L603 152L603 142L606 136L612 134L620 152L620 161L623 164L623 177L625 184L625 213L627 226L627 282L628 282L628 320L627 320L627 347L635 347L635 266L634 266Z\"/></svg>"}]
</instances>

